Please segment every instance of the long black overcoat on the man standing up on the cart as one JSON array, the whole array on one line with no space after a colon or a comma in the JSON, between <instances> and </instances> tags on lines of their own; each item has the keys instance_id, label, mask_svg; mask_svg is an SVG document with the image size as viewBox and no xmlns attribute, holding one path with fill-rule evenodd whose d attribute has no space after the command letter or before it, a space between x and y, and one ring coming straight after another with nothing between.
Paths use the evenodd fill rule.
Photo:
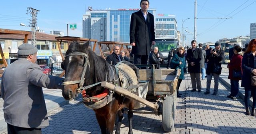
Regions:
<instances>
[{"instance_id":1,"label":"long black overcoat on the man standing up on the cart","mask_svg":"<svg viewBox=\"0 0 256 134\"><path fill-rule=\"evenodd\" d=\"M155 40L153 14L148 13L145 21L141 10L134 12L130 23L130 43L135 42L135 46L132 46L132 54L149 55L151 42Z\"/></svg>"}]
</instances>

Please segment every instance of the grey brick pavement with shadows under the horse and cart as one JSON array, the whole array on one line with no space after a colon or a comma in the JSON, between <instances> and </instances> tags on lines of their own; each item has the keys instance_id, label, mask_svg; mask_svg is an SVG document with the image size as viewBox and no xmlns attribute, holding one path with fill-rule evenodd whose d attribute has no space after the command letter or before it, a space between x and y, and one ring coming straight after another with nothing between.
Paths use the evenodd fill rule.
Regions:
<instances>
[{"instance_id":1,"label":"grey brick pavement with shadows under the horse and cart","mask_svg":"<svg viewBox=\"0 0 256 134\"><path fill-rule=\"evenodd\" d=\"M202 81L202 93L191 92L190 76L185 77L180 87L182 98L177 99L174 131L162 130L162 116L134 114L134 134L256 134L256 118L245 115L242 99L228 99L229 91L222 83L217 96L204 95L206 80ZM213 84L212 80L211 93ZM81 101L70 101L49 112L50 126L42 129L43 134L100 134L94 111ZM127 114L122 122L121 134L128 134Z\"/></svg>"}]
</instances>

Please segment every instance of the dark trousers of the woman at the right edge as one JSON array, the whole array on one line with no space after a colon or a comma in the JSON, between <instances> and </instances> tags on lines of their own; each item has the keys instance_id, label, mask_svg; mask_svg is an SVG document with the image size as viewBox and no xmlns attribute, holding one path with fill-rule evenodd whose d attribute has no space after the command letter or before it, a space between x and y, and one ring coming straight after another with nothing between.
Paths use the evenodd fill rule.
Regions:
<instances>
[{"instance_id":1,"label":"dark trousers of the woman at the right edge","mask_svg":"<svg viewBox=\"0 0 256 134\"><path fill-rule=\"evenodd\" d=\"M256 108L256 90L255 89L248 89L244 88L245 95L244 95L244 103L245 107L248 108L250 104L250 96L252 94L252 107Z\"/></svg>"}]
</instances>

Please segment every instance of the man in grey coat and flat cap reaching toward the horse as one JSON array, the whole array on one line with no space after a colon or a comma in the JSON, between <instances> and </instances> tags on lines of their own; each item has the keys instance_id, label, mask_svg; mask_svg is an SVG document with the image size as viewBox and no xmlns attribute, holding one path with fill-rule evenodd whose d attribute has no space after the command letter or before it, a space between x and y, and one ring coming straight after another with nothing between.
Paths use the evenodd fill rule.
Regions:
<instances>
[{"instance_id":1,"label":"man in grey coat and flat cap reaching toward the horse","mask_svg":"<svg viewBox=\"0 0 256 134\"><path fill-rule=\"evenodd\" d=\"M49 125L42 87L64 89L62 78L44 74L36 64L37 51L29 43L20 45L18 60L6 67L2 75L8 134L41 134L41 129Z\"/></svg>"}]
</instances>

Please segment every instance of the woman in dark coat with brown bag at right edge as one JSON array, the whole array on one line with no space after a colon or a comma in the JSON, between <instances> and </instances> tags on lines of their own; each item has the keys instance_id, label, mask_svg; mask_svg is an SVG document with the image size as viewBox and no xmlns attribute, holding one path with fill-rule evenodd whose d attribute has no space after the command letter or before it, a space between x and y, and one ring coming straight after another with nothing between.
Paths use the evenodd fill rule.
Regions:
<instances>
[{"instance_id":1,"label":"woman in dark coat with brown bag at right edge","mask_svg":"<svg viewBox=\"0 0 256 134\"><path fill-rule=\"evenodd\" d=\"M242 83L241 86L244 87L245 95L244 102L246 108L246 115L250 115L249 102L250 95L252 94L252 116L255 116L256 108L256 86L252 86L256 81L252 81L252 75L256 75L256 39L252 39L249 42L248 48L244 53L242 59Z\"/></svg>"}]
</instances>

